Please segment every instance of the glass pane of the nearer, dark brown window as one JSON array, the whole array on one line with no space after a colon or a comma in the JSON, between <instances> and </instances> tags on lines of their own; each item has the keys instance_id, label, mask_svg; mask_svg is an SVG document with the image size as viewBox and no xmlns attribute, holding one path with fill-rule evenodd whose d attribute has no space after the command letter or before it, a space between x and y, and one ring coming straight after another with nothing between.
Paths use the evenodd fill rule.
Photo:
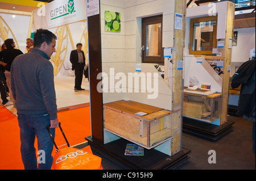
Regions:
<instances>
[{"instance_id":1,"label":"glass pane of the nearer, dark brown window","mask_svg":"<svg viewBox=\"0 0 256 181\"><path fill-rule=\"evenodd\" d=\"M160 56L159 41L161 36L161 23L146 26L146 56Z\"/></svg>"}]
</instances>

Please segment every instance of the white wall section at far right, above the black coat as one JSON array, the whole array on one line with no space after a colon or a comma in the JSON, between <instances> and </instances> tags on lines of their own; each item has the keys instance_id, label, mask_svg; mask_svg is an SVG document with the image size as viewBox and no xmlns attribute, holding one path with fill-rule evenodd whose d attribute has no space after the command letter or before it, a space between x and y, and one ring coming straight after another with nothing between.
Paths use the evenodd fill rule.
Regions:
<instances>
[{"instance_id":1,"label":"white wall section at far right, above the black coat","mask_svg":"<svg viewBox=\"0 0 256 181\"><path fill-rule=\"evenodd\" d=\"M232 62L246 62L249 60L250 49L255 48L255 27L234 29L237 33L237 45L232 46Z\"/></svg>"}]
</instances>

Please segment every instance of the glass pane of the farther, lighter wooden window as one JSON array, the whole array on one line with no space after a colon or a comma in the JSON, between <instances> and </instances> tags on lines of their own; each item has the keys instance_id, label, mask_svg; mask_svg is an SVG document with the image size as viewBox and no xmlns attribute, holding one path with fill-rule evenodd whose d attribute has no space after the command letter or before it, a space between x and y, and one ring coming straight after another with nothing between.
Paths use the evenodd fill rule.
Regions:
<instances>
[{"instance_id":1,"label":"glass pane of the farther, lighter wooden window","mask_svg":"<svg viewBox=\"0 0 256 181\"><path fill-rule=\"evenodd\" d=\"M193 24L193 51L212 50L214 26L216 20Z\"/></svg>"}]
</instances>

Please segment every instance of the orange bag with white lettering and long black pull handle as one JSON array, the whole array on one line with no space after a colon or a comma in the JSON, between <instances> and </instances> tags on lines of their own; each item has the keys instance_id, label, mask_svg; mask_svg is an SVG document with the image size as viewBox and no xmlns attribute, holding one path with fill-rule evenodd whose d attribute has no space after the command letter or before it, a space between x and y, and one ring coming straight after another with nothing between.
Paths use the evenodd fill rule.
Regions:
<instances>
[{"instance_id":1,"label":"orange bag with white lettering and long black pull handle","mask_svg":"<svg viewBox=\"0 0 256 181\"><path fill-rule=\"evenodd\" d=\"M53 140L52 134L49 131L50 125L47 126L49 136L55 145L57 153L53 159L52 169L54 170L103 170L101 166L101 158L92 153L90 146L86 146L83 150L73 148L69 145L65 134L60 127L60 130L67 142L68 148L59 150Z\"/></svg>"}]
</instances>

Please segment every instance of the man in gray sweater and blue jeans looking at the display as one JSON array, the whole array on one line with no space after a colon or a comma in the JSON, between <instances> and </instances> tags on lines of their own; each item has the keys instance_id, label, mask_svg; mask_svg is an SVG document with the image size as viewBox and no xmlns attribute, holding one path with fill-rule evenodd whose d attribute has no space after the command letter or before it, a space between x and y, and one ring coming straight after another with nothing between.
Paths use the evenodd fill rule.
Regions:
<instances>
[{"instance_id":1,"label":"man in gray sweater and blue jeans looking at the display","mask_svg":"<svg viewBox=\"0 0 256 181\"><path fill-rule=\"evenodd\" d=\"M37 30L34 48L16 57L11 65L11 90L16 100L24 169L51 169L52 166L53 143L46 127L51 124L53 136L53 128L59 127L53 66L49 61L55 52L56 39L48 30ZM38 167L35 136L38 138Z\"/></svg>"}]
</instances>

